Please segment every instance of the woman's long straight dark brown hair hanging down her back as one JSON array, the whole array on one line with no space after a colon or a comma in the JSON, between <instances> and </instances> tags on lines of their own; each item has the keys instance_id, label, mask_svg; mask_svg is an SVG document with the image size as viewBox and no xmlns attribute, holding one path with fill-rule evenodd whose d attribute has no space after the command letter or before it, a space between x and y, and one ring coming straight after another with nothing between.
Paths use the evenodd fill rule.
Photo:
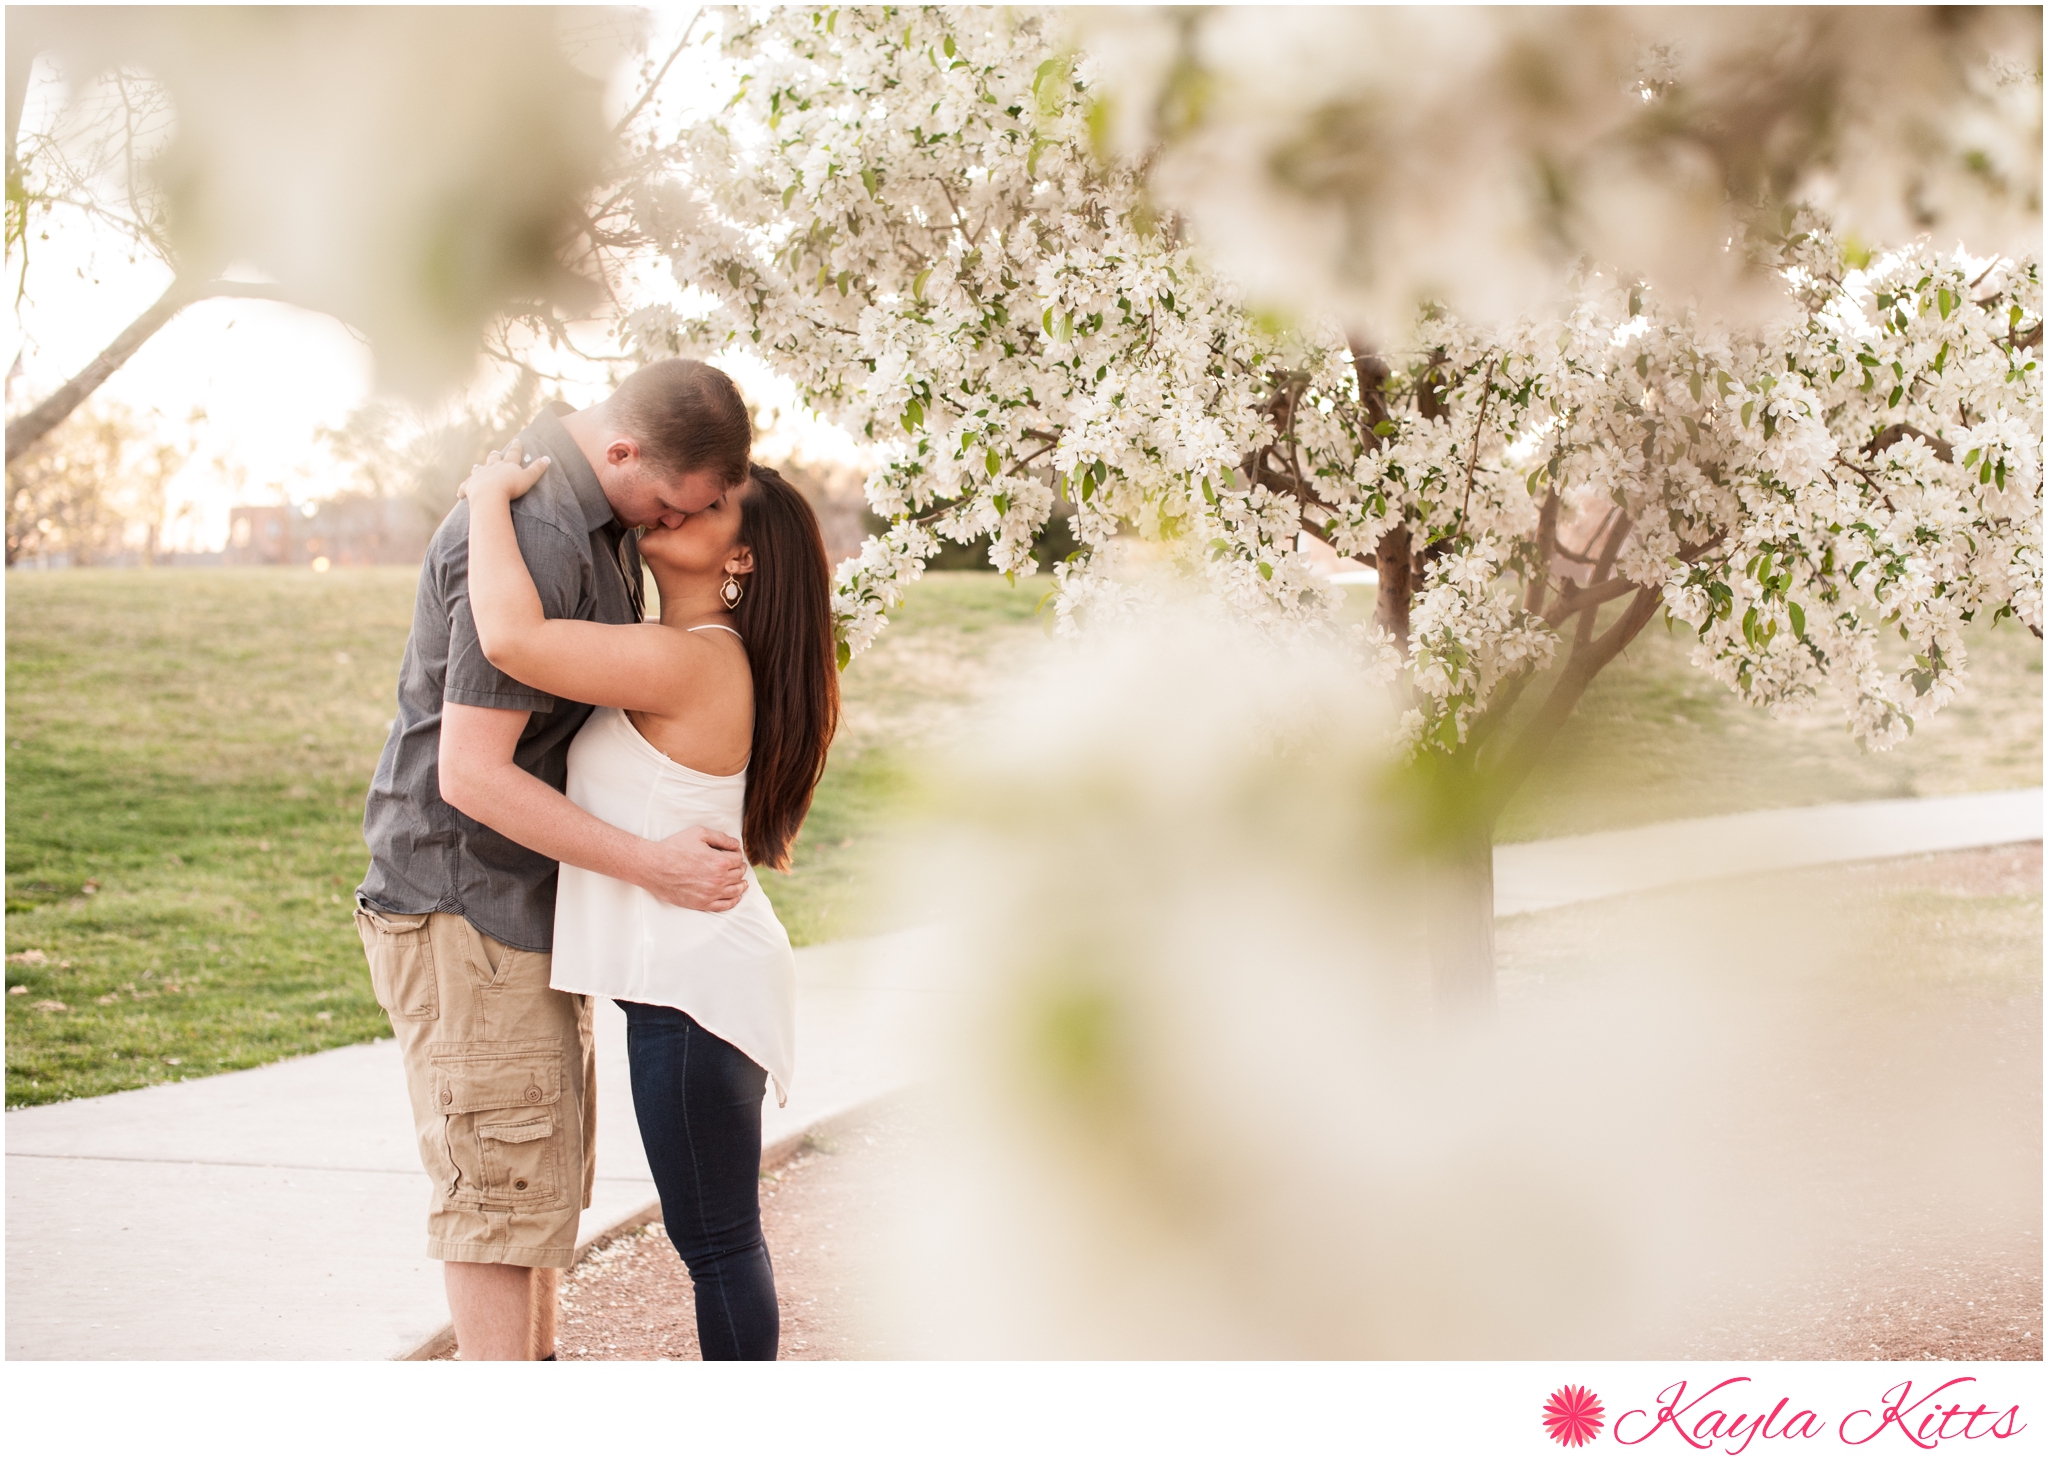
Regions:
<instances>
[{"instance_id":1,"label":"woman's long straight dark brown hair hanging down her back","mask_svg":"<svg viewBox=\"0 0 2048 1466\"><path fill-rule=\"evenodd\" d=\"M754 667L754 749L739 837L750 862L788 870L840 729L831 563L803 493L774 469L752 465L748 477L739 543L754 551L754 573L733 608L733 629Z\"/></svg>"}]
</instances>

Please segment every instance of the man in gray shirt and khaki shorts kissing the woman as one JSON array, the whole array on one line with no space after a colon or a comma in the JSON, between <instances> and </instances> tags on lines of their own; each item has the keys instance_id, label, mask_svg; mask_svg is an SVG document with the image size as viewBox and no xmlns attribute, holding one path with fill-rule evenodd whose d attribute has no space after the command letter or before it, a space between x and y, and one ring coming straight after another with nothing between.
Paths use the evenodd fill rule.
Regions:
<instances>
[{"instance_id":1,"label":"man in gray shirt and khaki shorts kissing the woman","mask_svg":"<svg viewBox=\"0 0 2048 1466\"><path fill-rule=\"evenodd\" d=\"M627 530L711 506L745 479L750 444L739 391L694 360L645 366L594 407L543 412L520 446L551 463L512 512L547 614L639 620ZM567 801L569 739L590 708L485 661L467 577L463 502L420 567L397 721L362 815L356 928L406 1065L434 1183L426 1251L463 1357L545 1360L596 1173L588 999L549 989L557 862L725 911L745 858L717 831L649 842Z\"/></svg>"}]
</instances>

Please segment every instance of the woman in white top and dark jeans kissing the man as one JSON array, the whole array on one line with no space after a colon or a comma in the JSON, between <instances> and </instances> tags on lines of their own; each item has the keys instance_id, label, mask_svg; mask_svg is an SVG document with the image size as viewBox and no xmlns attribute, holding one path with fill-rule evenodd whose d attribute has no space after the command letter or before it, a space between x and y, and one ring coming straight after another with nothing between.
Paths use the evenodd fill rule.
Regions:
<instances>
[{"instance_id":1,"label":"woman in white top and dark jeans kissing the man","mask_svg":"<svg viewBox=\"0 0 2048 1466\"><path fill-rule=\"evenodd\" d=\"M569 799L647 839L723 829L750 864L788 870L840 715L831 569L811 506L754 467L639 541L659 622L549 620L512 532L512 500L545 467L494 452L463 485L469 604L494 665L596 704L569 745ZM627 1014L633 1108L705 1357L776 1357L760 1116L770 1077L788 1093L795 958L768 897L750 872L735 907L686 911L563 866L553 987Z\"/></svg>"}]
</instances>

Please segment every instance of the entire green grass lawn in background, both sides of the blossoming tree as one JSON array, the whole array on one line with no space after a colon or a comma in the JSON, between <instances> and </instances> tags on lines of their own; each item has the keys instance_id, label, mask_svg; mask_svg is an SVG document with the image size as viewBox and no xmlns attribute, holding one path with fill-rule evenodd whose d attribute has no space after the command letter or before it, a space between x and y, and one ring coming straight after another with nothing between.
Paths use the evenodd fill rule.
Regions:
<instances>
[{"instance_id":1,"label":"entire green grass lawn in background, both sides of the blossoming tree","mask_svg":"<svg viewBox=\"0 0 2048 1466\"><path fill-rule=\"evenodd\" d=\"M387 1032L350 901L412 592L410 569L6 577L8 1106ZM1042 637L1042 592L928 575L848 670L797 868L764 876L793 940L889 925L891 811L1004 649ZM1972 692L1882 756L1743 708L1683 651L1645 633L1593 686L1505 839L2040 782L2040 643L2023 631L1978 637Z\"/></svg>"}]
</instances>

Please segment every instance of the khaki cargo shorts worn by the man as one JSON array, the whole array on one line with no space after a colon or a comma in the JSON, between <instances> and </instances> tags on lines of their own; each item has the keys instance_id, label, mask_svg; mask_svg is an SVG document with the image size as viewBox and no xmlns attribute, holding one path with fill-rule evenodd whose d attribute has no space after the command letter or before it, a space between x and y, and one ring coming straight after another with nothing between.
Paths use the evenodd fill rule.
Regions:
<instances>
[{"instance_id":1,"label":"khaki cargo shorts worn by the man","mask_svg":"<svg viewBox=\"0 0 2048 1466\"><path fill-rule=\"evenodd\" d=\"M449 911L356 907L356 930L434 1183L426 1255L567 1267L596 1179L590 999Z\"/></svg>"}]
</instances>

